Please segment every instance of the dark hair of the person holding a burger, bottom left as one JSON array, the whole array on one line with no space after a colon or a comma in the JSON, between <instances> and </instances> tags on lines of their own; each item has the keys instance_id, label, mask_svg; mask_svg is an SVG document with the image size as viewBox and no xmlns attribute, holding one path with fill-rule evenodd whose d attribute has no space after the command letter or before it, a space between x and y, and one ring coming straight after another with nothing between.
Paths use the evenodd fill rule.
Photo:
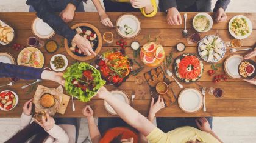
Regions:
<instances>
[{"instance_id":1,"label":"dark hair of the person holding a burger, bottom left","mask_svg":"<svg viewBox=\"0 0 256 143\"><path fill-rule=\"evenodd\" d=\"M18 133L5 141L5 143L26 142L29 139L31 139L31 143L43 142L47 136L48 133L44 131L44 128L34 121L26 128L23 128L23 130L18 131Z\"/></svg>"}]
</instances>

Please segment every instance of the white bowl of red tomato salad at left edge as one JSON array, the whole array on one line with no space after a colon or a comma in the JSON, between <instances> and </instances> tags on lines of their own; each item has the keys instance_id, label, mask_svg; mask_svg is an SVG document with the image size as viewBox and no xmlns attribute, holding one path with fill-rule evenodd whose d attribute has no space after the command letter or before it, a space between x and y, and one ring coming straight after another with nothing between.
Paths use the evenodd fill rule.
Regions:
<instances>
[{"instance_id":1,"label":"white bowl of red tomato salad at left edge","mask_svg":"<svg viewBox=\"0 0 256 143\"><path fill-rule=\"evenodd\" d=\"M0 93L0 109L3 111L12 110L18 104L18 95L10 90Z\"/></svg>"}]
</instances>

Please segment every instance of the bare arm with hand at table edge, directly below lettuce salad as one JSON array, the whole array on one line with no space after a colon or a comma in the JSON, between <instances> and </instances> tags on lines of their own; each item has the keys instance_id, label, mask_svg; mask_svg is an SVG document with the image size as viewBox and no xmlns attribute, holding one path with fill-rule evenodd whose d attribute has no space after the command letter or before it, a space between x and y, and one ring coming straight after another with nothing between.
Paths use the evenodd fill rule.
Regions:
<instances>
[{"instance_id":1,"label":"bare arm with hand at table edge, directly below lettuce salad","mask_svg":"<svg viewBox=\"0 0 256 143\"><path fill-rule=\"evenodd\" d=\"M99 128L94 122L93 110L91 109L90 106L87 105L83 108L82 113L85 117L87 117L87 120L88 120L91 141L93 143L98 143L101 139L101 133L99 133Z\"/></svg>"}]
</instances>

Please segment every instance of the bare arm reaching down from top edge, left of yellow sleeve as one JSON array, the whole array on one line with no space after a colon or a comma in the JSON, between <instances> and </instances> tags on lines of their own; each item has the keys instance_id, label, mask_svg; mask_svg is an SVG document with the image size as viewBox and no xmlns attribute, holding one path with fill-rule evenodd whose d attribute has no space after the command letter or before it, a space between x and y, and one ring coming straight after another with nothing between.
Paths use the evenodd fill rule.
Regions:
<instances>
[{"instance_id":1,"label":"bare arm reaching down from top edge, left of yellow sleeve","mask_svg":"<svg viewBox=\"0 0 256 143\"><path fill-rule=\"evenodd\" d=\"M101 23L108 27L114 27L114 25L110 21L110 18L108 17L107 13L105 12L104 8L102 7L101 2L99 2L99 0L92 0L92 1L99 13L99 17L101 18Z\"/></svg>"}]
</instances>

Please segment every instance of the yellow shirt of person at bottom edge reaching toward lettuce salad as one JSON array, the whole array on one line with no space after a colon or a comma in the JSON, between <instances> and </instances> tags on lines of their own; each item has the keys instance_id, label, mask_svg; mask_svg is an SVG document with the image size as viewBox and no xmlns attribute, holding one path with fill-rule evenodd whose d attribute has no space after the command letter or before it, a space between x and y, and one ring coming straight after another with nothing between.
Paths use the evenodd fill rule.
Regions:
<instances>
[{"instance_id":1,"label":"yellow shirt of person at bottom edge reaching toward lettuce salad","mask_svg":"<svg viewBox=\"0 0 256 143\"><path fill-rule=\"evenodd\" d=\"M195 141L196 139L207 143L219 142L218 139L210 135L210 133L189 126L179 127L168 133L163 133L162 130L156 127L149 133L147 139L151 143L186 143L187 141Z\"/></svg>"}]
</instances>

